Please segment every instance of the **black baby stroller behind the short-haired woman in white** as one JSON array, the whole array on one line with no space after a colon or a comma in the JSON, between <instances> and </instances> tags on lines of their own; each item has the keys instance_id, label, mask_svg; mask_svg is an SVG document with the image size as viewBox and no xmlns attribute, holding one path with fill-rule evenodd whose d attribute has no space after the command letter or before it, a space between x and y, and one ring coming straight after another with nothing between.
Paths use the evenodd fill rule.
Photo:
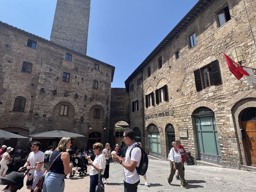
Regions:
<instances>
[{"instance_id":1,"label":"black baby stroller behind the short-haired woman in white","mask_svg":"<svg viewBox=\"0 0 256 192\"><path fill-rule=\"evenodd\" d=\"M73 166L76 167L76 170L78 170L80 177L87 173L88 160L84 157L84 155L72 157L72 163ZM75 175L76 170L72 171L72 176Z\"/></svg>"}]
</instances>

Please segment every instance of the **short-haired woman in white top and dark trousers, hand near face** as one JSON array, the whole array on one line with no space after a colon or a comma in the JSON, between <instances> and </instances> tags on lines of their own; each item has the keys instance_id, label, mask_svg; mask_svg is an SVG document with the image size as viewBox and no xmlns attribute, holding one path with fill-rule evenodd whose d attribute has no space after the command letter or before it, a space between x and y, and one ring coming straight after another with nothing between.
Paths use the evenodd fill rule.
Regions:
<instances>
[{"instance_id":1,"label":"short-haired woman in white top and dark trousers, hand near face","mask_svg":"<svg viewBox=\"0 0 256 192\"><path fill-rule=\"evenodd\" d=\"M88 164L92 166L90 170L90 192L95 192L98 180L102 180L104 170L106 168L106 159L102 154L103 144L95 143L93 146L93 152L96 155L94 161L88 159ZM87 156L86 156L87 158ZM100 178L98 176L98 171L100 171Z\"/></svg>"}]
</instances>

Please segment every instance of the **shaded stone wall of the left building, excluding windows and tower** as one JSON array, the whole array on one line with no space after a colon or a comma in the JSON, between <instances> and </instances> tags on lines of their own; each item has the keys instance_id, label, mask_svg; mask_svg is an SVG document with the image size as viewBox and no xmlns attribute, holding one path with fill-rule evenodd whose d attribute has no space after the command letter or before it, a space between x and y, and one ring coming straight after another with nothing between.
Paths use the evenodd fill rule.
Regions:
<instances>
[{"instance_id":1,"label":"shaded stone wall of the left building, excluding windows and tower","mask_svg":"<svg viewBox=\"0 0 256 192\"><path fill-rule=\"evenodd\" d=\"M106 142L114 67L4 23L0 31L1 128L24 128L30 134L50 130L83 134L87 137L73 140L79 148L86 148L88 134L97 131ZM37 42L36 49L26 46L28 38ZM65 60L67 52L72 61ZM23 61L33 64L31 74L21 72ZM62 81L64 72L70 74L69 82ZM98 81L98 89L93 88L93 80ZM26 98L24 112L12 111L18 96ZM61 104L68 106L67 116L60 115ZM90 115L94 106L100 106L96 123L101 126L94 126ZM95 129L89 131L89 124Z\"/></svg>"}]
</instances>

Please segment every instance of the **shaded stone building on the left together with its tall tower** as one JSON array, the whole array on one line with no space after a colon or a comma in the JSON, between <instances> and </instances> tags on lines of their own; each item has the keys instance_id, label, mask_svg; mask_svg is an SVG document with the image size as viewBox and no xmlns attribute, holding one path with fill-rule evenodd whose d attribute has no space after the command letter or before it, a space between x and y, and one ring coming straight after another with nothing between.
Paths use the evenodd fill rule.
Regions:
<instances>
[{"instance_id":1,"label":"shaded stone building on the left together with its tall tower","mask_svg":"<svg viewBox=\"0 0 256 192\"><path fill-rule=\"evenodd\" d=\"M0 129L78 133L86 137L73 146L90 148L108 141L115 68L86 56L90 0L66 6L72 2L57 1L50 41L0 22ZM55 139L40 141L46 148ZM4 142L16 146L16 139Z\"/></svg>"}]
</instances>

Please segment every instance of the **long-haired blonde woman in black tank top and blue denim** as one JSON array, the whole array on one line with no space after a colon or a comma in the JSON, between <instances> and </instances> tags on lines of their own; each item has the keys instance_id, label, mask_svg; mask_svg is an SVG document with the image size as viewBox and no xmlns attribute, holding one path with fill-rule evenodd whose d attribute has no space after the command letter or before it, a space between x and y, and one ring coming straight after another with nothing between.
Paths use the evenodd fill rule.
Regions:
<instances>
[{"instance_id":1,"label":"long-haired blonde woman in black tank top and blue denim","mask_svg":"<svg viewBox=\"0 0 256 192\"><path fill-rule=\"evenodd\" d=\"M45 175L43 192L64 192L65 181L64 177L70 172L69 166L69 154L66 152L71 146L70 137L64 137L60 140L58 147L52 153L51 159L49 161L49 166L60 154L58 158L54 161L50 169Z\"/></svg>"}]
</instances>

